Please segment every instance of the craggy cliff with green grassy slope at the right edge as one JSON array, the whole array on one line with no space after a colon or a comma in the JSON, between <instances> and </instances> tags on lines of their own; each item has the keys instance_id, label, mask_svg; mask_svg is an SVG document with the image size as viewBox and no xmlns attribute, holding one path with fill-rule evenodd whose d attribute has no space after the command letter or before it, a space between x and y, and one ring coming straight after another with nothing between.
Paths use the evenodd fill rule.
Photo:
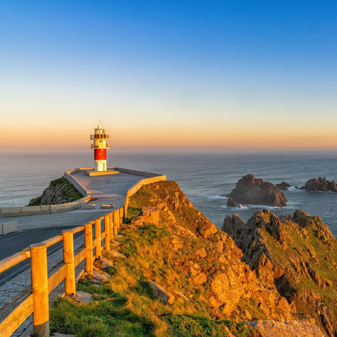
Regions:
<instances>
[{"instance_id":1,"label":"craggy cliff with green grassy slope at the right edge","mask_svg":"<svg viewBox=\"0 0 337 337\"><path fill-rule=\"evenodd\" d=\"M296 211L287 218L256 212L234 235L235 243L257 278L277 289L293 311L336 336L337 240L318 216Z\"/></svg>"}]
</instances>

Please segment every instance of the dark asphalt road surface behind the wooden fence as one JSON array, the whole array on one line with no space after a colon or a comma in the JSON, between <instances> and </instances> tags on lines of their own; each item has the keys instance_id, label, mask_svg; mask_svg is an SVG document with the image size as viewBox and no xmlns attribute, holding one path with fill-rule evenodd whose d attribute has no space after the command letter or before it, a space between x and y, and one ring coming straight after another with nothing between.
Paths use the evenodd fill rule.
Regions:
<instances>
[{"instance_id":1,"label":"dark asphalt road surface behind the wooden fence","mask_svg":"<svg viewBox=\"0 0 337 337\"><path fill-rule=\"evenodd\" d=\"M0 260L12 254L19 252L21 249L28 247L33 243L38 243L49 239L55 235L60 234L65 229L71 229L74 226L65 227L48 227L48 228L34 228L26 231L8 234L0 237ZM83 232L74 234L74 239L82 235ZM47 256L54 253L56 250L62 248L62 242L58 242L47 248ZM18 274L30 268L30 259L20 262L0 274L0 286Z\"/></svg>"}]
</instances>

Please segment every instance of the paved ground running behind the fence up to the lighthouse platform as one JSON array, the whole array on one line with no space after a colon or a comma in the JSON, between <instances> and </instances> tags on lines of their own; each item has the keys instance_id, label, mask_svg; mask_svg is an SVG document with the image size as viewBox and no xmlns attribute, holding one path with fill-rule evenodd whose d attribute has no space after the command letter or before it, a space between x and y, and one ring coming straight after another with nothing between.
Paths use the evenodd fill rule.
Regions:
<instances>
[{"instance_id":1,"label":"paved ground running behind the fence up to the lighthouse platform","mask_svg":"<svg viewBox=\"0 0 337 337\"><path fill-rule=\"evenodd\" d=\"M83 184L87 189L91 191L92 197L98 199L97 201L93 202L96 203L96 207L99 207L99 204L114 204L115 208L122 207L125 201L126 191L136 182L145 178L143 176L128 173L89 177L86 176L83 172L76 173L75 177L81 182L81 184ZM99 208L93 210L77 209L74 211L56 214L2 218L2 220L8 219L8 221L17 220L18 229L19 231L23 232L0 237L0 258L10 256L20 249L29 246L29 244L40 242L45 240L46 238L53 237L60 233L62 228L64 227L72 228L80 226L88 221L93 220L94 218L101 217L108 211L109 210L107 209ZM49 228L50 231L48 231ZM33 229L35 229L35 231L33 231ZM39 231L37 229L39 229ZM55 231L57 233L55 233ZM22 239L23 236L25 237L25 240ZM20 242L19 244L13 244L13 241L10 240L13 238L15 239L16 237L19 240L18 242ZM28 241L27 238L29 239ZM83 235L81 235L74 240L74 249L78 248L83 243L84 238ZM10 248L8 248L8 245L10 245ZM49 248L50 251L48 253L48 269L50 269L63 259L63 251L61 249L61 245L59 244L59 249L57 249L58 247L56 245L55 247L52 247ZM13 251L13 249L15 251ZM24 271L18 275L18 270L20 270L20 268ZM30 284L31 281L29 266L27 268L27 265L25 266L24 264L22 264L18 266L16 270L14 267L10 268L9 270L12 270L12 274L10 274L10 272L7 272L6 275L4 275L3 277L3 282L6 279L10 279L10 281L6 283L2 282L3 284L0 286L0 306L6 303L16 294L18 294L23 288ZM64 282L62 282L55 289L55 291L60 290L62 292L61 289L63 287L63 283ZM55 291L50 294L50 297L55 295ZM31 322L32 315L25 320L25 322L12 336L20 336L24 332L27 332L28 330L26 329L28 326L31 326Z\"/></svg>"}]
</instances>

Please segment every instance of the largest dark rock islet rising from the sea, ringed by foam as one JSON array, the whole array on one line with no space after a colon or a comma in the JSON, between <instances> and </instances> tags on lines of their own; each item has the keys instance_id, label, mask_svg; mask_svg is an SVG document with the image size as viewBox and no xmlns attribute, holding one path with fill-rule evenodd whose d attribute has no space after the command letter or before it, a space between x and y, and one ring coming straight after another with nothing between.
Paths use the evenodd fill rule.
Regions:
<instances>
[{"instance_id":1,"label":"largest dark rock islet rising from the sea, ringed by foam","mask_svg":"<svg viewBox=\"0 0 337 337\"><path fill-rule=\"evenodd\" d=\"M236 203L267 206L287 206L285 195L272 183L254 178L252 174L242 177L231 193L226 195Z\"/></svg>"}]
</instances>

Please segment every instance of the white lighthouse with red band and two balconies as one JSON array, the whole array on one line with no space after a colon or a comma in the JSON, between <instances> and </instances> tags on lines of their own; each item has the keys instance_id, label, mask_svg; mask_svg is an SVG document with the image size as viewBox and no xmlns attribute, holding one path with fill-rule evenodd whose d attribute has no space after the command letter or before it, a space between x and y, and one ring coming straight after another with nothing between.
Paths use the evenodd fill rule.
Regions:
<instances>
[{"instance_id":1,"label":"white lighthouse with red band and two balconies","mask_svg":"<svg viewBox=\"0 0 337 337\"><path fill-rule=\"evenodd\" d=\"M109 140L109 134L105 134L104 126L99 123L94 129L94 134L90 135L90 139L94 141L94 144L91 144L91 149L94 149L94 170L97 172L106 171L106 149L110 149L110 145L106 141Z\"/></svg>"}]
</instances>

